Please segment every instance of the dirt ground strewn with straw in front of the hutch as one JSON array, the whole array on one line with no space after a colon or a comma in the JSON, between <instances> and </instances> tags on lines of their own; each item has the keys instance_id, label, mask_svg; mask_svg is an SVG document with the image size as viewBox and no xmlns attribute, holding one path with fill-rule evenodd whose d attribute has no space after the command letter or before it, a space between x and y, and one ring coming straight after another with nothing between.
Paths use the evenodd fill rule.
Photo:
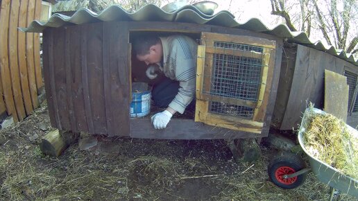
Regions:
<instances>
[{"instance_id":1,"label":"dirt ground strewn with straw in front of the hutch","mask_svg":"<svg viewBox=\"0 0 358 201\"><path fill-rule=\"evenodd\" d=\"M235 162L222 140L153 140L96 136L58 158L40 150L50 130L46 104L0 130L0 200L328 200L328 187L309 173L297 189L269 181L276 151ZM81 137L87 137L82 135ZM357 200L344 193L341 200Z\"/></svg>"}]
</instances>

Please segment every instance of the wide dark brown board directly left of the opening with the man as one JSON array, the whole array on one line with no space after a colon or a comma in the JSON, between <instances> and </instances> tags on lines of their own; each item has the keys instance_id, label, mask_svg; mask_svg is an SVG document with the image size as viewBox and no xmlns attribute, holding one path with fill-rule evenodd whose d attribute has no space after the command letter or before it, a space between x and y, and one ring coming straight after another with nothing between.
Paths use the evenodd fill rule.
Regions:
<instances>
[{"instance_id":1,"label":"wide dark brown board directly left of the opening with the man","mask_svg":"<svg viewBox=\"0 0 358 201\"><path fill-rule=\"evenodd\" d=\"M130 132L130 52L127 22L109 22L104 24L105 39L108 40L110 87L106 89L110 98L110 135L128 136ZM107 45L106 45L107 46Z\"/></svg>"}]
</instances>

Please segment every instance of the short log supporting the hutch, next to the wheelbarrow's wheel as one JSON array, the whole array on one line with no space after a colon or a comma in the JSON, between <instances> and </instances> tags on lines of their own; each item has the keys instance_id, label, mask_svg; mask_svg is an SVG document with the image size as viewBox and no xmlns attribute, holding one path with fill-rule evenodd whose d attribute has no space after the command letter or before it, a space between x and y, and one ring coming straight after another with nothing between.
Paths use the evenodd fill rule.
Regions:
<instances>
[{"instance_id":1,"label":"short log supporting the hutch, next to the wheelbarrow's wheel","mask_svg":"<svg viewBox=\"0 0 358 201\"><path fill-rule=\"evenodd\" d=\"M228 147L232 152L232 157L237 162L254 162L261 157L259 145L253 138L229 140Z\"/></svg>"}]
</instances>

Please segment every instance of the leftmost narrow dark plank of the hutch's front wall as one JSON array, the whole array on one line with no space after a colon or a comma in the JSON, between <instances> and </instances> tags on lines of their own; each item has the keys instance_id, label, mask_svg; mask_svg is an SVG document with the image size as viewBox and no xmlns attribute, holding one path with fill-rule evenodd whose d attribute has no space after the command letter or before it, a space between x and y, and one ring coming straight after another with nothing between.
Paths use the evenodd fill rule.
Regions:
<instances>
[{"instance_id":1,"label":"leftmost narrow dark plank of the hutch's front wall","mask_svg":"<svg viewBox=\"0 0 358 201\"><path fill-rule=\"evenodd\" d=\"M46 28L44 30L44 36L42 38L42 58L44 66L44 86L46 89L46 100L47 108L49 110L50 122L53 128L58 128L60 119L58 117L58 112L55 110L55 105L57 108L57 96L53 86L55 84L53 82L53 29L54 28Z\"/></svg>"}]
</instances>

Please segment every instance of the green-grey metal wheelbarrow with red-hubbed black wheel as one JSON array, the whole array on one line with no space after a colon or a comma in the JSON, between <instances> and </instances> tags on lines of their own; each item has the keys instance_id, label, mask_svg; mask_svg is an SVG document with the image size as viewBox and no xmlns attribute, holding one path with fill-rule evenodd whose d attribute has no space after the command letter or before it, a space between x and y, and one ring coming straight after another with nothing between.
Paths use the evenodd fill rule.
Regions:
<instances>
[{"instance_id":1,"label":"green-grey metal wheelbarrow with red-hubbed black wheel","mask_svg":"<svg viewBox=\"0 0 358 201\"><path fill-rule=\"evenodd\" d=\"M309 112L317 114L327 113L316 108L307 108L302 118L298 132L298 141L308 157L310 167L306 166L305 161L300 155L291 152L281 152L278 156L271 159L269 163L268 173L271 181L283 189L293 189L305 182L307 173L312 171L320 182L330 186L330 200L333 200L334 197L339 197L339 194L336 192L347 193L358 198L358 180L344 175L336 168L316 159L306 150L303 144L303 134L305 133L305 125L307 125L305 121L307 121ZM346 126L348 130L355 130L349 125ZM358 135L355 137L358 138Z\"/></svg>"}]
</instances>

